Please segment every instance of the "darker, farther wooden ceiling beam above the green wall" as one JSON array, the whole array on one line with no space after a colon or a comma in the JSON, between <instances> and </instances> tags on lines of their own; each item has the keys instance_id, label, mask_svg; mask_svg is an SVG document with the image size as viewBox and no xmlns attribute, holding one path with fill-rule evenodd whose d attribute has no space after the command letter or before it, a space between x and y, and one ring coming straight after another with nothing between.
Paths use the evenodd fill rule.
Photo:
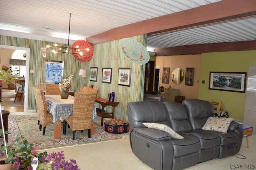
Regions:
<instances>
[{"instance_id":1,"label":"darker, farther wooden ceiling beam above the green wall","mask_svg":"<svg viewBox=\"0 0 256 170\"><path fill-rule=\"evenodd\" d=\"M167 47L155 49L156 56L188 55L224 51L256 50L256 41L208 43L196 45L182 45L178 47Z\"/></svg>"}]
</instances>

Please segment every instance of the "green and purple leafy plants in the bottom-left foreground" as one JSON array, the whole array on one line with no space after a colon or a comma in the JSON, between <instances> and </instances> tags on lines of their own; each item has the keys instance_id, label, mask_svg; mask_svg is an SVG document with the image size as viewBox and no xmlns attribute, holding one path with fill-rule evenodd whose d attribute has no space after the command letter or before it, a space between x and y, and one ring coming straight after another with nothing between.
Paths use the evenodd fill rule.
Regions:
<instances>
[{"instance_id":1,"label":"green and purple leafy plants in the bottom-left foreground","mask_svg":"<svg viewBox=\"0 0 256 170\"><path fill-rule=\"evenodd\" d=\"M0 129L0 136L2 136L2 129ZM5 131L8 134L7 131ZM32 160L36 158L37 160L37 168L36 170L80 170L78 169L78 165L76 164L76 160L71 160L68 162L65 160L64 151L55 153L52 152L48 154L47 152L39 153L36 152L36 146L34 144L30 144L23 136L16 137L14 141L14 146L9 146L6 143L4 146L3 138L0 138L0 158L4 156L4 162L2 164L12 164L12 169L28 169L34 170L32 167ZM7 154L6 154L7 152ZM0 161L0 169L1 168Z\"/></svg>"}]
</instances>

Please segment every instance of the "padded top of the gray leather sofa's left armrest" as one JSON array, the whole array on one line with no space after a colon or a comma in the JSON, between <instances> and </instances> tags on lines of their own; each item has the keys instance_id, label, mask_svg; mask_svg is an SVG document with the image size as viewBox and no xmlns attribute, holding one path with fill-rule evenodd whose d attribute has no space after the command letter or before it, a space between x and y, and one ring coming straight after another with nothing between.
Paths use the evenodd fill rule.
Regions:
<instances>
[{"instance_id":1,"label":"padded top of the gray leather sofa's left armrest","mask_svg":"<svg viewBox=\"0 0 256 170\"><path fill-rule=\"evenodd\" d=\"M172 137L167 132L162 130L147 128L147 127L138 127L134 128L133 131L141 136L150 138L152 140L171 140Z\"/></svg>"}]
</instances>

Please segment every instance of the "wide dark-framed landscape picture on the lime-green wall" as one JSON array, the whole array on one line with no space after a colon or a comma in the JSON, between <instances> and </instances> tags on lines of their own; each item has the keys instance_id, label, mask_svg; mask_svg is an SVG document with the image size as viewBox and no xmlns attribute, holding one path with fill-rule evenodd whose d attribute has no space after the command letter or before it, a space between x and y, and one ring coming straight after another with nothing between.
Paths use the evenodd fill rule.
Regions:
<instances>
[{"instance_id":1,"label":"wide dark-framed landscape picture on the lime-green wall","mask_svg":"<svg viewBox=\"0 0 256 170\"><path fill-rule=\"evenodd\" d=\"M210 72L209 89L245 93L246 72Z\"/></svg>"}]
</instances>

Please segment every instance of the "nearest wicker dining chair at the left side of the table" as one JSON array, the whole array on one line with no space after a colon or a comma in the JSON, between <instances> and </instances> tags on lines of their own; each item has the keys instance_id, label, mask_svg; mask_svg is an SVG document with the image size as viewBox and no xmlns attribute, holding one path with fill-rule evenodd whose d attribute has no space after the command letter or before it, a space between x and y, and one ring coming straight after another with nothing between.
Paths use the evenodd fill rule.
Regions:
<instances>
[{"instance_id":1,"label":"nearest wicker dining chair at the left side of the table","mask_svg":"<svg viewBox=\"0 0 256 170\"><path fill-rule=\"evenodd\" d=\"M53 116L47 111L46 99L44 97L44 92L42 89L34 86L34 95L36 97L36 105L37 105L37 114L38 121L40 123L39 129L42 130L43 126L43 135L45 134L46 126L52 124Z\"/></svg>"}]
</instances>

